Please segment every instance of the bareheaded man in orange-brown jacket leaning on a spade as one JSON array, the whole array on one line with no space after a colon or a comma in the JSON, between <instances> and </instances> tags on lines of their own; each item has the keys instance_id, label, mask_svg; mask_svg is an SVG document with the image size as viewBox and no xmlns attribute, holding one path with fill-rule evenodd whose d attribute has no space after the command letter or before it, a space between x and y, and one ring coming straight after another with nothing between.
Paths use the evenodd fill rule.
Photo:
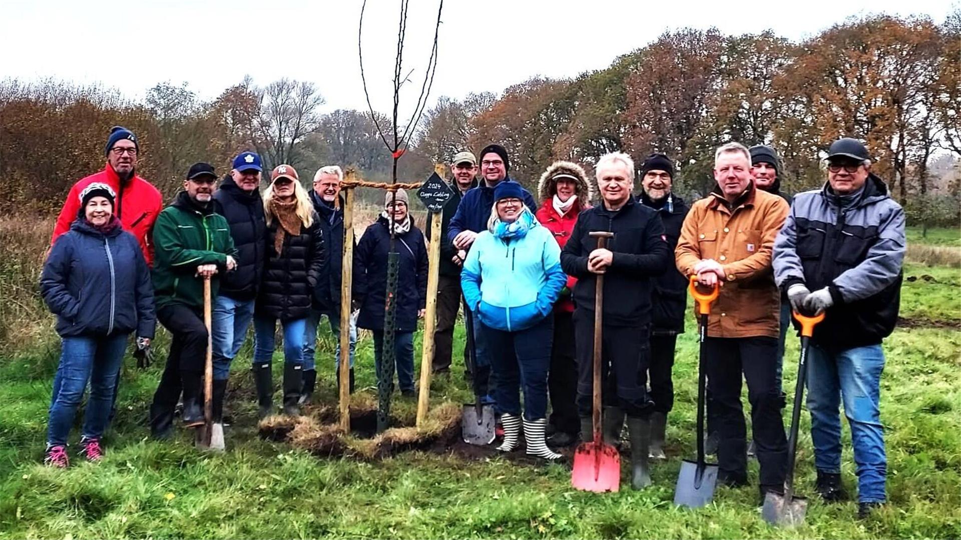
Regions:
<instances>
[{"instance_id":1,"label":"bareheaded man in orange-brown jacket leaning on a spade","mask_svg":"<svg viewBox=\"0 0 961 540\"><path fill-rule=\"evenodd\" d=\"M675 258L681 274L697 275L706 286L721 285L702 353L720 438L718 480L730 486L748 483L741 408L744 373L763 501L766 492L783 491L787 467L776 386L780 295L771 258L788 205L757 189L751 178L751 155L736 142L717 149L714 180L717 187L684 218Z\"/></svg>"}]
</instances>

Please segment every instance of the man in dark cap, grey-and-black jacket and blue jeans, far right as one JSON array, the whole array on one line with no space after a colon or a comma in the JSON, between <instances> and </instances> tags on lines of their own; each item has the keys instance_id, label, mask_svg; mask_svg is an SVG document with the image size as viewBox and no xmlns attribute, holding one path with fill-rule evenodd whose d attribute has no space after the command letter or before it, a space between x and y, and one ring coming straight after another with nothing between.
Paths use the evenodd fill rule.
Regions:
<instances>
[{"instance_id":1,"label":"man in dark cap, grey-and-black jacket and blue jeans, far right","mask_svg":"<svg viewBox=\"0 0 961 540\"><path fill-rule=\"evenodd\" d=\"M898 322L904 250L904 210L871 173L868 150L853 138L834 141L827 151L827 183L795 197L777 234L774 269L792 307L825 313L808 355L816 489L825 501L847 499L838 414L843 401L861 518L887 500L878 412L881 340Z\"/></svg>"}]
</instances>

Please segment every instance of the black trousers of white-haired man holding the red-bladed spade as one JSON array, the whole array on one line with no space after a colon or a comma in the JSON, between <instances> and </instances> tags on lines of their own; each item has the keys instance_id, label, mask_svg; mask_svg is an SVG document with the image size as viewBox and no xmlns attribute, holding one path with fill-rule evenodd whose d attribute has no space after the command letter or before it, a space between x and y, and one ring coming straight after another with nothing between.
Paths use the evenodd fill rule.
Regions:
<instances>
[{"instance_id":1,"label":"black trousers of white-haired man holding the red-bladed spade","mask_svg":"<svg viewBox=\"0 0 961 540\"><path fill-rule=\"evenodd\" d=\"M578 351L578 411L591 414L594 395L594 313L574 316ZM601 336L601 400L624 408L628 416L646 418L653 403L648 399L648 329L604 325Z\"/></svg>"}]
</instances>

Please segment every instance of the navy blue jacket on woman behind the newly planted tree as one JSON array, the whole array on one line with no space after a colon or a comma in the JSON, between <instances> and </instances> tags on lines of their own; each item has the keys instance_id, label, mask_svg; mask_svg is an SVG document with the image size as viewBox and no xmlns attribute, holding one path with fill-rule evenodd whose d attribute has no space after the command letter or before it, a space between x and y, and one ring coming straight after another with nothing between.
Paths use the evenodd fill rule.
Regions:
<instances>
[{"instance_id":1,"label":"navy blue jacket on woman behind the newly planted tree","mask_svg":"<svg viewBox=\"0 0 961 540\"><path fill-rule=\"evenodd\" d=\"M387 288L387 253L390 233L387 220L379 217L364 231L354 252L354 298L360 302L357 326L383 330L383 301ZM424 234L410 226L397 235L400 258L397 277L397 331L417 330L417 311L427 305L427 245Z\"/></svg>"}]
</instances>

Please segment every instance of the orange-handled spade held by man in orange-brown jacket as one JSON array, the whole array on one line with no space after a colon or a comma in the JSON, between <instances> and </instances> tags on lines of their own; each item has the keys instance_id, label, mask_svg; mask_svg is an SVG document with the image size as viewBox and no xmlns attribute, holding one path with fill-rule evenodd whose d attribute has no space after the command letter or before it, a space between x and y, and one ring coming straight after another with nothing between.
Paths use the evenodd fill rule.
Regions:
<instances>
[{"instance_id":1,"label":"orange-handled spade held by man in orange-brown jacket","mask_svg":"<svg viewBox=\"0 0 961 540\"><path fill-rule=\"evenodd\" d=\"M689 290L698 303L698 314L701 316L699 329L701 351L698 354L698 459L696 461L684 459L680 463L674 503L679 506L698 508L710 503L714 498L714 487L718 480L718 466L704 461L704 394L707 385L707 372L704 369L704 339L707 337L707 317L711 312L711 303L717 300L720 291L715 283L714 290L709 294L702 294L698 290L697 276L691 276Z\"/></svg>"}]
</instances>

